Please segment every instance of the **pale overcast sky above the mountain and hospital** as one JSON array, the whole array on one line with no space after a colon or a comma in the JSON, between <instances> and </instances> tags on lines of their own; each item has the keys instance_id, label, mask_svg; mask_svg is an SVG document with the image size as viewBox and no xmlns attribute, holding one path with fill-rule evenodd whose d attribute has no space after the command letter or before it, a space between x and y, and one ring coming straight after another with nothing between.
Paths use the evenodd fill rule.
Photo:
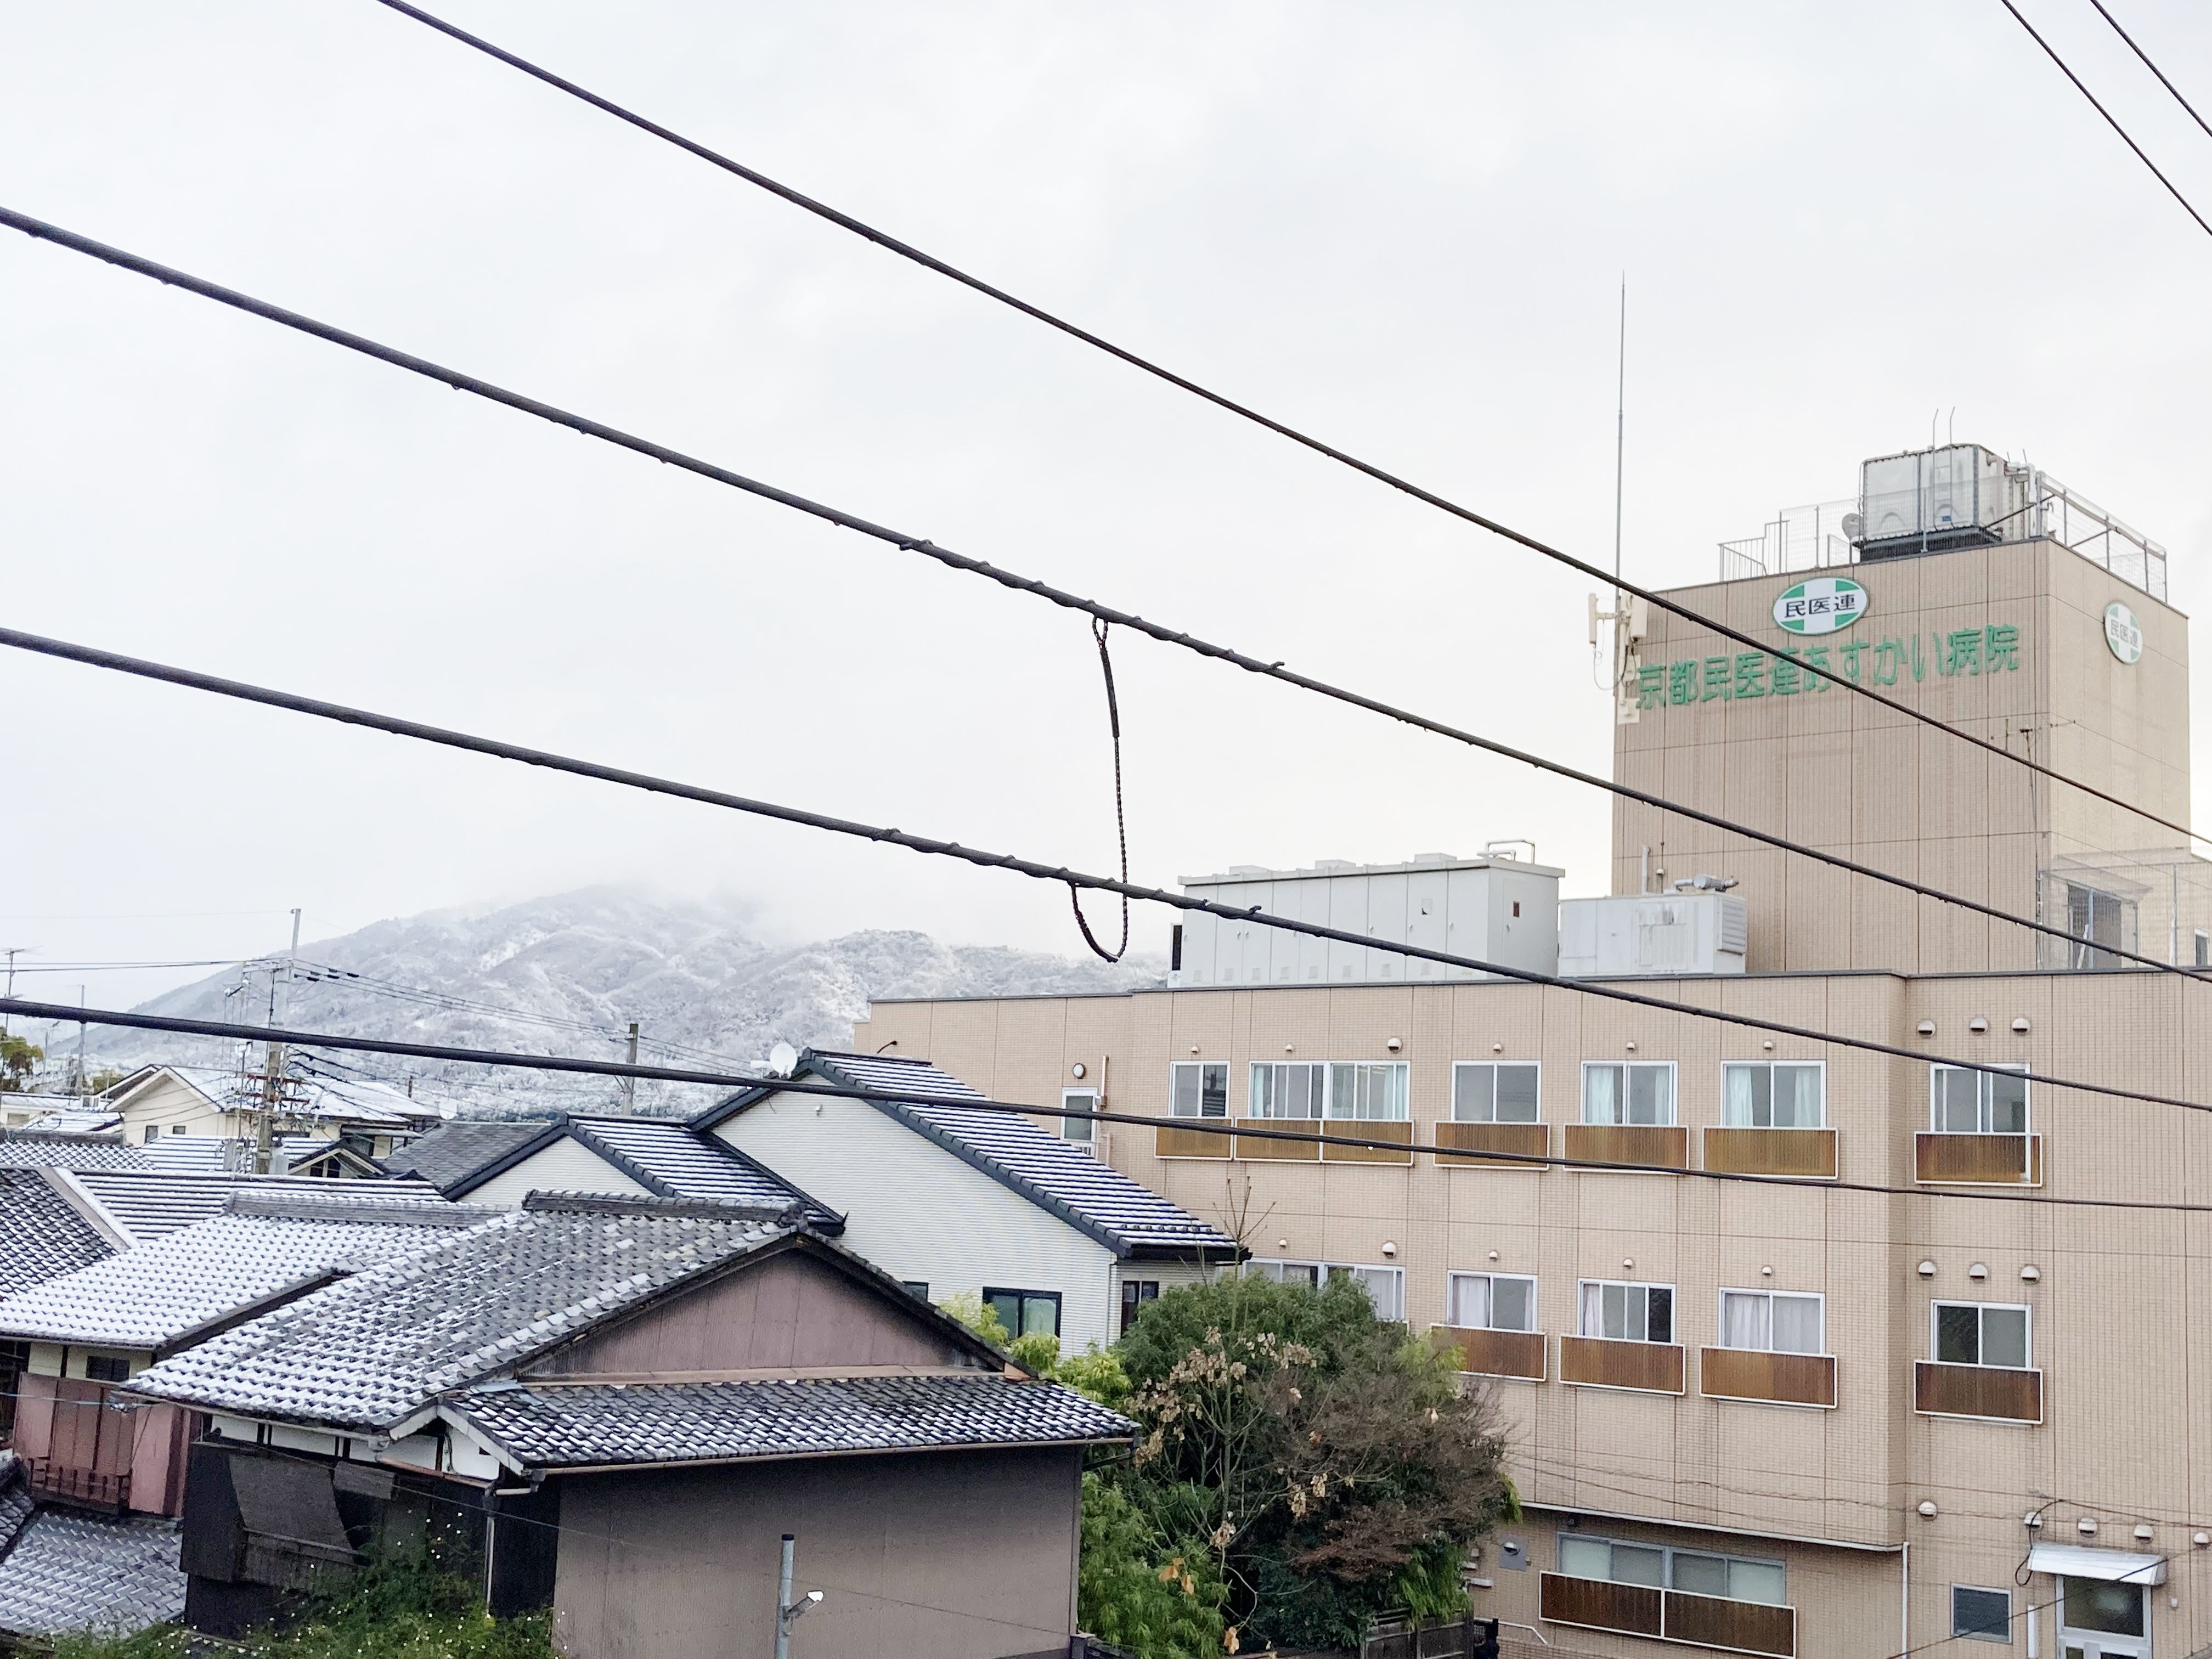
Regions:
<instances>
[{"instance_id":1,"label":"pale overcast sky above the mountain and hospital","mask_svg":"<svg viewBox=\"0 0 2212 1659\"><path fill-rule=\"evenodd\" d=\"M1955 407L2201 602L2212 239L1997 0L445 9L1601 562L1626 270L1644 582L1710 580L1719 540ZM2024 9L2212 217L2212 137L2084 0ZM2212 13L2115 11L2212 102ZM1608 765L1584 580L374 0L0 9L0 201ZM15 628L1113 863L1077 615L13 232L0 387ZM1064 891L1013 876L0 657L27 964L602 880L750 894L779 938L1079 949ZM1531 836L1606 885L1601 796L1141 639L1115 666L1139 880Z\"/></svg>"}]
</instances>

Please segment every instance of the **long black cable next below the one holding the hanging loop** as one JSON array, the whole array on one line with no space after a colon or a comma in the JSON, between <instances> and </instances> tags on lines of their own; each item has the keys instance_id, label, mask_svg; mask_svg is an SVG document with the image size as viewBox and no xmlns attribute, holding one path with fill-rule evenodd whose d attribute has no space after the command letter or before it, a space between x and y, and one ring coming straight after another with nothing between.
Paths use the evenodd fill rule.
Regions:
<instances>
[{"instance_id":1,"label":"long black cable next below the one holding the hanging loop","mask_svg":"<svg viewBox=\"0 0 2212 1659\"><path fill-rule=\"evenodd\" d=\"M1942 1064L1958 1066L1962 1071L2002 1071L1984 1062L1953 1060L1949 1055L1922 1053L1916 1048L1900 1048L1891 1042L1876 1042L1874 1037L1843 1037L1827 1031L1814 1031L1812 1026L1796 1026L1785 1020L1765 1020L1752 1013L1728 1013L1725 1009L1699 1006L1694 1002L1674 1002L1670 998L1655 998L1641 991L1624 991L1615 984L1597 984L1590 980L1566 980L1557 973L1537 973L1535 969L1511 967L1506 962L1484 962L1473 956L1455 956L1453 951L1438 951L1427 945L1407 945L1402 940L1374 938L1371 933L1354 933L1343 927L1327 927L1323 922L1296 920L1290 916L1263 916L1259 905L1239 907L1223 905L1212 898L1192 898L1190 894L1170 894L1164 887L1139 887L1135 883L1115 880L1110 876L1091 876L1066 865L1046 865L1033 858L1020 858L1011 852L984 852L982 847L962 847L958 841L938 841L936 836L916 836L907 830L894 830L872 823L858 823L854 818L834 818L825 812L810 812L805 807L779 805L774 801L759 801L743 794L730 794L726 790L708 790L699 783L679 783L675 779L659 779L650 772L630 772L617 765L602 765L599 761L580 761L566 754L553 754L549 750L533 750L520 743L504 743L493 737L476 737L471 732L456 732L445 726L425 726L422 721L400 719L396 714L376 714L365 708L347 708L345 703L327 703L314 697L299 697L294 692L270 690L268 686L248 686L239 679L221 679L219 675L201 675L192 668L173 668L168 664L146 661L144 657L124 657L115 650L102 650L97 646L75 646L64 639L46 639L42 635L22 633L18 628L0 628L0 646L11 646L15 650L31 650L44 657L60 657L64 661L77 661L93 668L108 668L122 675L137 675L139 679L159 679L170 686L186 686L190 690L212 692L217 697L234 697L246 703L261 703L265 708L283 708L294 714L312 714L314 719L336 721L341 726L361 726L374 732L389 732L394 737L409 737L422 743L438 743L442 748L467 750L471 754L489 754L500 761L520 761L522 765L540 765L549 772L566 772L580 779L593 779L595 783L617 783L628 790L644 790L646 794L666 794L677 801L697 801L710 807L726 807L730 812L745 812L757 818L774 818L776 823L794 823L803 830L825 830L838 836L854 836L856 841L876 841L894 847L905 847L907 852L927 854L931 858L958 858L969 865L984 869L1011 869L1018 876L1031 876L1033 880L1066 883L1068 889L1091 889L1102 894L1121 894L1126 898L1139 898L1155 905L1168 905L1181 911L1199 911L1206 916L1219 916L1232 922L1259 920L1263 927L1274 927L1285 933L1305 933L1310 938L1323 938L1334 945L1358 945L1363 949L1389 951L1391 956L1407 956L1418 962L1440 962L1442 967L1473 969L1475 973L1493 973L1502 980L1520 980L1522 984L1544 984L1555 991L1571 991L1573 995L1597 998L1601 1002L1624 1002L1637 1009L1657 1009L1661 1013L1681 1013L1692 1020L1712 1020L1717 1024L1741 1026L1745 1031L1767 1031L1778 1037L1803 1037L1805 1042L1825 1042L1838 1048L1858 1048L1863 1053L1889 1055L1893 1060L1909 1060L1913 1064ZM637 1073L646 1075L646 1073ZM2051 1088L2079 1088L2090 1095L2110 1095L2115 1099L2141 1099L2154 1106L2181 1106L2185 1110L2212 1110L2194 1099L2181 1099L2177 1095L2150 1095L2137 1088L2119 1088L2117 1084L2090 1084L2070 1077L2048 1077L2035 1071L2008 1071L2011 1077L2024 1077L2026 1082L2046 1084Z\"/></svg>"}]
</instances>

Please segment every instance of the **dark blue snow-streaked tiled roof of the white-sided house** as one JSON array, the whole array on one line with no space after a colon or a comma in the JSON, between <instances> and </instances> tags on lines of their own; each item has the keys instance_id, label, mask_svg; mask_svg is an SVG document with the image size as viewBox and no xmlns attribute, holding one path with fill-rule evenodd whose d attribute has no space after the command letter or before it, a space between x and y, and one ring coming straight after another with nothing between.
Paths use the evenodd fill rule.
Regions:
<instances>
[{"instance_id":1,"label":"dark blue snow-streaked tiled roof of the white-sided house","mask_svg":"<svg viewBox=\"0 0 2212 1659\"><path fill-rule=\"evenodd\" d=\"M1121 1175L1106 1159L1037 1128L1020 1113L962 1106L984 1097L927 1060L889 1055L841 1055L807 1048L792 1082L821 1077L847 1088L880 1088L896 1102L869 1102L876 1110L936 1141L1002 1186L1091 1234L1115 1254L1206 1252L1230 1256L1237 1243L1221 1228L1201 1221L1146 1186ZM699 1113L692 1124L712 1128L774 1091L750 1088Z\"/></svg>"}]
</instances>

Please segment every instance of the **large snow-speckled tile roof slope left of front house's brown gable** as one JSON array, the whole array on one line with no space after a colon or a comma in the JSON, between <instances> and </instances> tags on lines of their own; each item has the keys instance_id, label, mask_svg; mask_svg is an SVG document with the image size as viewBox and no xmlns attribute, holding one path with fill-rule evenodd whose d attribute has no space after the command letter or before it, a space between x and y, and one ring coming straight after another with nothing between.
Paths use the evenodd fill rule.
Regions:
<instances>
[{"instance_id":1,"label":"large snow-speckled tile roof slope left of front house's brown gable","mask_svg":"<svg viewBox=\"0 0 2212 1659\"><path fill-rule=\"evenodd\" d=\"M139 1371L133 1394L343 1429L394 1429L436 1396L794 1228L712 1206L533 1197Z\"/></svg>"}]
</instances>

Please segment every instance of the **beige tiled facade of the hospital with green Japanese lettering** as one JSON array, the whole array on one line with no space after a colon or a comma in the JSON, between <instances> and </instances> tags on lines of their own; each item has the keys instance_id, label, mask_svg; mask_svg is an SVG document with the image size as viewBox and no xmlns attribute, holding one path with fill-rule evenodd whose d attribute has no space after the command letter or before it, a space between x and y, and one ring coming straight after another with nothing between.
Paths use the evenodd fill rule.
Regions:
<instances>
[{"instance_id":1,"label":"beige tiled facade of the hospital with green Japanese lettering","mask_svg":"<svg viewBox=\"0 0 2212 1659\"><path fill-rule=\"evenodd\" d=\"M1885 690L1993 741L2035 745L2039 759L2185 821L2183 617L2051 544L1854 575L1874 599L1856 624L1867 639L1860 670L1874 672L1878 641L1898 641L1900 684ZM1787 584L1765 577L1686 597L1778 639L1770 608ZM2132 668L2104 644L2112 597L2148 635ZM1938 635L1973 628L1986 641L1991 626L2017 628L2017 670L1940 675L1929 661ZM1916 686L1907 686L1907 635L1922 650ZM1838 672L1840 639L1827 641ZM1717 655L1710 641L1670 639L1655 613L1648 664L1705 655ZM2055 860L2152 845L2117 810L2053 805L2051 790L2028 790L2020 770L1843 690L1646 710L1621 728L1617 765L1630 781L2026 914ZM1542 1617L1546 1575L1573 1535L1781 1562L1790 1650L1818 1659L1947 1639L1953 1586L2006 1590L2015 1615L2051 1601L2048 1573L2015 1582L2037 1540L2163 1555L2168 1582L2146 1593L2150 1646L2062 1641L2057 1613L2044 1606L2013 1619L2015 1650L2181 1659L2212 1644L2212 1548L2194 1542L2212 1533L2212 1387L2197 1371L2203 1358L2212 1376L2212 1212L2037 1203L2212 1203L2212 1183L2197 1179L2212 1168L2212 1115L2035 1084L2033 1152L2020 1179L1955 1183L1958 1168L1940 1159L1973 1137L1916 1146L1931 1128L1931 1057L2212 1102L2212 1060L2194 1042L2212 1022L2212 987L2148 971L2039 969L2046 958L2022 929L1805 860L1785 865L1641 807L1615 812L1617 891L1635 891L1641 845L1663 849L1670 878L1741 878L1752 971L1639 980L1639 993L1913 1057L1504 982L878 1002L856 1046L896 1044L891 1053L927 1057L989 1095L1037 1104L1057 1104L1082 1064L1104 1086L1106 1110L1137 1115L1168 1115L1177 1062L1228 1064L1230 1113L1241 1115L1256 1062L1398 1060L1409 1068L1416 1144L1433 1144L1451 1119L1453 1062L1533 1060L1551 1155L1568 1150L1582 1117L1584 1062L1672 1062L1692 1170L1717 1168L1705 1130L1721 1128L1725 1062L1818 1060L1834 1186L1444 1168L1427 1155L1405 1166L1245 1159L1228 1157L1228 1146L1212 1159L1159 1157L1155 1133L1139 1126L1108 1128L1102 1152L1190 1210L1241 1221L1254 1256L1402 1270L1416 1329L1444 1323L1453 1272L1537 1279L1544 1380L1484 1385L1513 1425L1511 1467L1528 1517L1484 1548L1475 1595L1478 1610L1517 1626L1506 1635L1526 1652L1686 1650ZM2157 945L2163 956L2166 942L2168 920L2146 911L2141 949ZM2020 1157L2015 1141L1989 1144ZM1562 1338L1575 1338L1584 1279L1674 1287L1681 1394L1562 1380ZM1708 1371L1721 1374L1730 1356L1701 1349L1721 1345L1723 1287L1825 1298L1834 1407L1714 1398ZM1936 1301L2028 1307L2033 1376L1980 1367L1920 1376L1933 1356ZM1630 1345L1606 1352L1621 1347ZM1741 1374L1741 1354L1734 1360ZM2044 1517L2039 1533L2024 1526L2031 1511ZM1690 1624L1694 1613L1683 1606ZM1949 1650L1989 1646L1960 1639Z\"/></svg>"}]
</instances>

